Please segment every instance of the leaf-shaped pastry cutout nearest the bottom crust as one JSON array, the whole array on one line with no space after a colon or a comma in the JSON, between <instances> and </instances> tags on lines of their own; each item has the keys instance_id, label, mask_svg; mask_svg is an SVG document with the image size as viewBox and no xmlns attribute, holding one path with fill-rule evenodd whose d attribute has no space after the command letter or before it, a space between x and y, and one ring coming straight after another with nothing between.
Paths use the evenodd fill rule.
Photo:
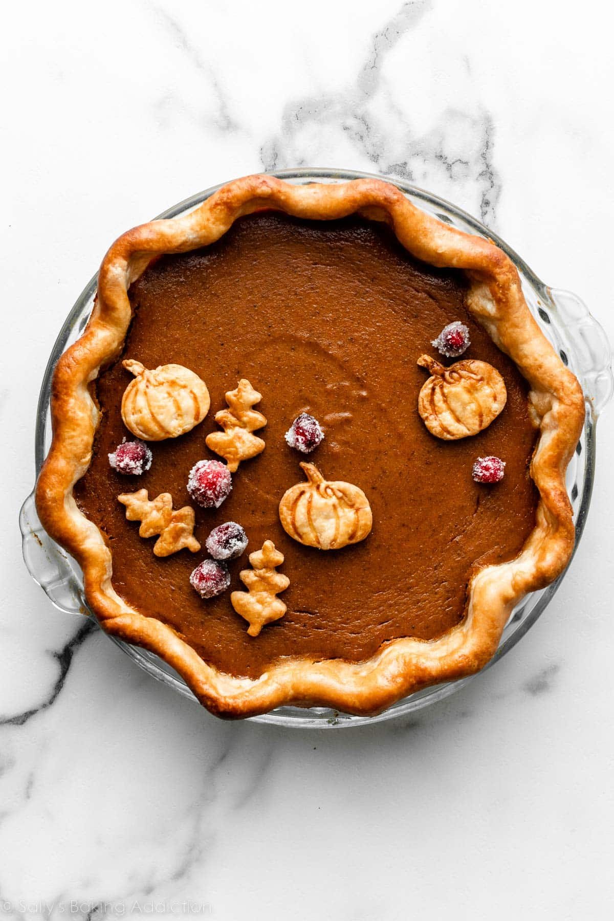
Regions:
<instances>
[{"instance_id":1,"label":"leaf-shaped pastry cutout nearest the bottom crust","mask_svg":"<svg viewBox=\"0 0 614 921\"><path fill-rule=\"evenodd\" d=\"M230 600L237 614L248 621L249 636L258 636L265 624L278 621L286 612L284 601L275 597L290 585L290 579L275 569L283 562L284 554L275 549L272 541L265 541L261 550L249 554L252 568L239 573L248 590L233 591Z\"/></svg>"}]
</instances>

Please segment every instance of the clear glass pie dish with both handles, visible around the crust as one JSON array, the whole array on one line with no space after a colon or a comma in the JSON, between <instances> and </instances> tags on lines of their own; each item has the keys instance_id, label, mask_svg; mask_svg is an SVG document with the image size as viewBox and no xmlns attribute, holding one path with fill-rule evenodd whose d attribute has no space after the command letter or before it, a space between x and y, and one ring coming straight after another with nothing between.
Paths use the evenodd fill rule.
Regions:
<instances>
[{"instance_id":1,"label":"clear glass pie dish with both handles, visible around the crust","mask_svg":"<svg viewBox=\"0 0 614 921\"><path fill-rule=\"evenodd\" d=\"M297 169L274 173L280 179L295 184L311 181L340 182L365 177L365 173L331 169ZM372 177L386 179L389 177ZM478 221L428 192L416 189L405 182L392 180L408 199L429 214L447 224L458 227L466 233L492 239L516 264L529 309L533 312L542 331L582 384L585 393L585 426L578 442L573 461L567 471L567 490L573 505L573 519L577 540L582 535L585 517L590 501L595 467L595 431L597 415L612 394L613 381L610 369L610 354L603 330L595 321L582 301L569 292L545 286L530 271L516 253L498 239ZM188 213L201 204L219 186L194 195L190 199L170 208L161 217L175 217ZM36 470L41 470L42 461L51 443L50 395L52 371L64 349L75 342L83 332L90 315L96 292L94 277L77 299L53 347L41 388L36 430ZM24 503L20 525L23 534L24 559L32 577L41 585L53 604L68 613L90 613L85 599L79 567L51 540L42 529L37 517L33 496ZM577 541L576 541L577 545ZM561 577L560 577L561 578ZM560 578L548 588L533 592L516 606L504 628L498 650L489 663L500 659L524 635L539 614L544 610L558 588ZM167 683L180 694L195 700L188 686L164 661L145 649L133 647L115 639L120 647L145 671L158 680ZM446 682L427 688L392 705L377 717L353 717L323 707L301 709L284 706L271 713L250 717L257 722L276 723L292 727L344 727L362 723L373 723L411 713L425 705L434 703L458 690L470 679Z\"/></svg>"}]
</instances>

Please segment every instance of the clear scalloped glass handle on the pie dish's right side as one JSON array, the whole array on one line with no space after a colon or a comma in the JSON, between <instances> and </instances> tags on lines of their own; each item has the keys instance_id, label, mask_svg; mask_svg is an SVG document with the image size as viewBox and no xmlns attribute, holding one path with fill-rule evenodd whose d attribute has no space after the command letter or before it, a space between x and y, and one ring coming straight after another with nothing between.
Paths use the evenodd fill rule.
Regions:
<instances>
[{"instance_id":1,"label":"clear scalloped glass handle on the pie dish's right side","mask_svg":"<svg viewBox=\"0 0 614 921\"><path fill-rule=\"evenodd\" d=\"M614 392L608 336L582 298L562 288L548 288L548 293L569 333L575 358L573 369L579 372L585 397L597 418Z\"/></svg>"}]
</instances>

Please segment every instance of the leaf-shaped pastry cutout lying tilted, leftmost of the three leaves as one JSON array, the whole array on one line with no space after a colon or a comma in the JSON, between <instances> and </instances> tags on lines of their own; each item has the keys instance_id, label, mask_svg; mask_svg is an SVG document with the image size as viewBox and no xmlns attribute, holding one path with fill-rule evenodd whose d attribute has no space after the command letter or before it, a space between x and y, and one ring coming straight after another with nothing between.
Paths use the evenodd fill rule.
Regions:
<instances>
[{"instance_id":1,"label":"leaf-shaped pastry cutout lying tilted, leftmost of the three leaves","mask_svg":"<svg viewBox=\"0 0 614 921\"><path fill-rule=\"evenodd\" d=\"M126 507L129 521L140 521L140 537L159 537L154 544L156 556L170 556L187 547L192 554L201 549L194 537L194 509L184 506L173 511L173 499L170 493L160 493L149 500L146 489L136 493L122 493L118 500Z\"/></svg>"}]
</instances>

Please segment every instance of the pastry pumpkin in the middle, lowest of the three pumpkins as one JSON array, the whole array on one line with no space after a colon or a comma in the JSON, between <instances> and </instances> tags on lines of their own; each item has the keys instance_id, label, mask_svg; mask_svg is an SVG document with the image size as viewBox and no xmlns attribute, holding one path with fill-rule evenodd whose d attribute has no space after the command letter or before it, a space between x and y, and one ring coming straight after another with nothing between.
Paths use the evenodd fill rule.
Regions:
<instances>
[{"instance_id":1,"label":"pastry pumpkin in the middle, lowest of the three pumpkins","mask_svg":"<svg viewBox=\"0 0 614 921\"><path fill-rule=\"evenodd\" d=\"M339 550L365 540L373 515L363 490L342 480L329 483L315 464L303 462L301 467L307 483L292 486L279 504L284 531L319 550Z\"/></svg>"}]
</instances>

